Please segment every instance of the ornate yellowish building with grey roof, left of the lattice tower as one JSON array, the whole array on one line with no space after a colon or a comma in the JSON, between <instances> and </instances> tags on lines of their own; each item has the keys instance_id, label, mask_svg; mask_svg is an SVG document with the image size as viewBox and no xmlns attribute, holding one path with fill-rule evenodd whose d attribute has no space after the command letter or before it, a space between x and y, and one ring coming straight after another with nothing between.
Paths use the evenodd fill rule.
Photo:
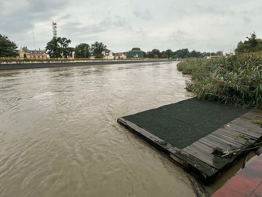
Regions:
<instances>
[{"instance_id":1,"label":"ornate yellowish building with grey roof, left of the lattice tower","mask_svg":"<svg viewBox=\"0 0 262 197\"><path fill-rule=\"evenodd\" d=\"M47 53L45 50L29 50L27 47L20 47L19 49L19 58L24 59L41 59L46 60L47 59Z\"/></svg>"}]
</instances>

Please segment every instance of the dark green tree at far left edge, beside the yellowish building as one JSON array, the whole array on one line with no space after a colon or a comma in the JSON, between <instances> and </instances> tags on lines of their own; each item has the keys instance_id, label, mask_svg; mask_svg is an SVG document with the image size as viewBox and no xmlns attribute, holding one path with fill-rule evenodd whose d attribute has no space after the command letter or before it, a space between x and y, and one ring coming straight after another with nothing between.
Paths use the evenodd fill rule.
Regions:
<instances>
[{"instance_id":1,"label":"dark green tree at far left edge, beside the yellowish building","mask_svg":"<svg viewBox=\"0 0 262 197\"><path fill-rule=\"evenodd\" d=\"M0 34L0 57L17 57L17 45L5 35Z\"/></svg>"}]
</instances>

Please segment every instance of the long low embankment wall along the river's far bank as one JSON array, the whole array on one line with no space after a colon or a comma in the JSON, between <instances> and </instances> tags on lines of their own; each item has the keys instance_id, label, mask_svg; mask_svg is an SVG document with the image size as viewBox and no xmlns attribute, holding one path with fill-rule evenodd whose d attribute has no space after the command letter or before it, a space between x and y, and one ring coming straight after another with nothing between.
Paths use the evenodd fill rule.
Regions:
<instances>
[{"instance_id":1,"label":"long low embankment wall along the river's far bank","mask_svg":"<svg viewBox=\"0 0 262 197\"><path fill-rule=\"evenodd\" d=\"M123 63L147 63L147 62L164 62L168 60L148 60L148 61L86 61L86 62L57 62L57 63L8 63L0 64L0 70L9 69L26 69L26 68L49 68L64 66L88 66L104 64L123 64Z\"/></svg>"}]
</instances>

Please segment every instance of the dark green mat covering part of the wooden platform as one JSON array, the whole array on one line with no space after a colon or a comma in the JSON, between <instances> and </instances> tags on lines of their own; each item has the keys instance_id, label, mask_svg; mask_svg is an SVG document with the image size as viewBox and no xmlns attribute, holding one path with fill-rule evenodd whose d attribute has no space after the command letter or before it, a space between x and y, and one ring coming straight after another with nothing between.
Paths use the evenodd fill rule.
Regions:
<instances>
[{"instance_id":1,"label":"dark green mat covering part of the wooden platform","mask_svg":"<svg viewBox=\"0 0 262 197\"><path fill-rule=\"evenodd\" d=\"M248 111L191 98L123 118L183 149Z\"/></svg>"}]
</instances>

